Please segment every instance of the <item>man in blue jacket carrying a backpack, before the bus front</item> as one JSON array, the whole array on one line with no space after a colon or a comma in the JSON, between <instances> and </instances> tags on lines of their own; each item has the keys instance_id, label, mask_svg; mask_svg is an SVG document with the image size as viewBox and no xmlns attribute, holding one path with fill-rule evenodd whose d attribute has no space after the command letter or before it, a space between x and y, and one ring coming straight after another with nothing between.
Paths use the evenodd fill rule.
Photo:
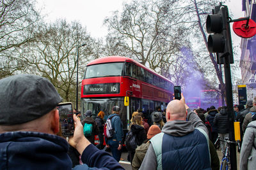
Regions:
<instances>
[{"instance_id":1,"label":"man in blue jacket carrying a backpack, before the bus front","mask_svg":"<svg viewBox=\"0 0 256 170\"><path fill-rule=\"evenodd\" d=\"M124 136L123 124L119 114L120 108L118 106L113 106L112 114L109 115L108 118L111 119L111 125L115 130L115 133L112 138L108 138L106 141L107 147L111 148L112 155L117 162L119 162L122 155L122 138Z\"/></svg>"}]
</instances>

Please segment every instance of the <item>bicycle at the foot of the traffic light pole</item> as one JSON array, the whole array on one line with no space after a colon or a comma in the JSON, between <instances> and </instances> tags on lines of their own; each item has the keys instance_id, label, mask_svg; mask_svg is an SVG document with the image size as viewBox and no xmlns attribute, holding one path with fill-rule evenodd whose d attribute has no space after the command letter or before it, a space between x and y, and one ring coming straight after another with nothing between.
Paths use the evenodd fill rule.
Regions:
<instances>
[{"instance_id":1,"label":"bicycle at the foot of the traffic light pole","mask_svg":"<svg viewBox=\"0 0 256 170\"><path fill-rule=\"evenodd\" d=\"M221 159L220 170L229 170L230 169L230 155L229 155L229 148L230 148L230 146L229 146L229 144L230 143L235 143L236 145L238 145L238 148L240 150L239 141L230 141L228 138L221 139L220 136L218 136L218 138L216 139L214 145L216 145L218 140L227 143L227 146L225 148L225 154L224 154L223 158Z\"/></svg>"}]
</instances>

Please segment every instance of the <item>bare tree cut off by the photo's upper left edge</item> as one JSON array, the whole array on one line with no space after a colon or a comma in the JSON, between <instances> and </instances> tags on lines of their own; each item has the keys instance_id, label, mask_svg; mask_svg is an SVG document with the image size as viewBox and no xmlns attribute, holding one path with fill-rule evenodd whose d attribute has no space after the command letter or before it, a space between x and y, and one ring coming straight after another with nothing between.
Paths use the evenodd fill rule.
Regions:
<instances>
[{"instance_id":1,"label":"bare tree cut off by the photo's upper left edge","mask_svg":"<svg viewBox=\"0 0 256 170\"><path fill-rule=\"evenodd\" d=\"M0 78L24 68L20 46L35 41L39 20L33 0L0 1Z\"/></svg>"}]
</instances>

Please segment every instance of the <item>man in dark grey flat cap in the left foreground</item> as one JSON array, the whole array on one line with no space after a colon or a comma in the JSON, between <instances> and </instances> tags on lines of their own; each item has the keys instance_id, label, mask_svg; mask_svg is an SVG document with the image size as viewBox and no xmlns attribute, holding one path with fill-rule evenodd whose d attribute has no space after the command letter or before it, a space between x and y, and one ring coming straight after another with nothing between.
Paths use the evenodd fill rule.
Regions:
<instances>
[{"instance_id":1,"label":"man in dark grey flat cap in the left foreground","mask_svg":"<svg viewBox=\"0 0 256 170\"><path fill-rule=\"evenodd\" d=\"M68 143L56 136L56 106L61 100L52 83L40 76L20 74L0 80L0 169L71 169L68 143L82 155L84 164L77 168L123 169L84 137L76 115Z\"/></svg>"}]
</instances>

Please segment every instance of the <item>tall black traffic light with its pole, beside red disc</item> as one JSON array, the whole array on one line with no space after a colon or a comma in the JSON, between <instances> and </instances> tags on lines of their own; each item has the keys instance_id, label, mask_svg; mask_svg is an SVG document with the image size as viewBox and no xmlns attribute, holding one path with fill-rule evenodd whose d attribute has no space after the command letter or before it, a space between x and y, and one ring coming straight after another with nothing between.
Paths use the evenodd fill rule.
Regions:
<instances>
[{"instance_id":1,"label":"tall black traffic light with its pole, beside red disc","mask_svg":"<svg viewBox=\"0 0 256 170\"><path fill-rule=\"evenodd\" d=\"M232 40L230 34L230 20L228 16L228 7L222 5L215 6L212 15L208 15L206 19L206 30L210 33L208 37L209 52L216 53L218 64L224 64L225 70L225 86L228 124L230 127L229 139L235 141L234 137L234 110L233 110L233 94L230 64L234 63ZM232 170L237 169L236 161L236 144L230 143L230 167Z\"/></svg>"}]
</instances>

